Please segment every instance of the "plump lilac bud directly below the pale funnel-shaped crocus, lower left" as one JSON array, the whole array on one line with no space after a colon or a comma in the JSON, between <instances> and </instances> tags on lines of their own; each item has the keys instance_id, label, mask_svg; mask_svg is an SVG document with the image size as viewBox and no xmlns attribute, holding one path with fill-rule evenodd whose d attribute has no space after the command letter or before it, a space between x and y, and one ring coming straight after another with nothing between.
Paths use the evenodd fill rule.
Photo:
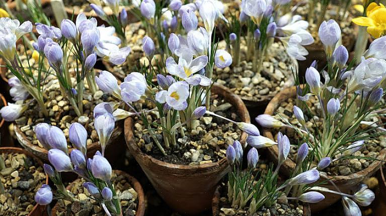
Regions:
<instances>
[{"instance_id":1,"label":"plump lilac bud directly below the pale funnel-shaped crocus, lower left","mask_svg":"<svg viewBox=\"0 0 386 216\"><path fill-rule=\"evenodd\" d=\"M105 157L94 155L91 171L96 178L110 182L112 169L109 161Z\"/></svg>"}]
</instances>

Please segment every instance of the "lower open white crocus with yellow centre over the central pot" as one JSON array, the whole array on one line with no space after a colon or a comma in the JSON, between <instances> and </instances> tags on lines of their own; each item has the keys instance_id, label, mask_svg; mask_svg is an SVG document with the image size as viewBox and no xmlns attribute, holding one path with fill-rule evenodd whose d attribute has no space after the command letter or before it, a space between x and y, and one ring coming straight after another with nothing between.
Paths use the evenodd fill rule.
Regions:
<instances>
[{"instance_id":1,"label":"lower open white crocus with yellow centre over the central pot","mask_svg":"<svg viewBox=\"0 0 386 216\"><path fill-rule=\"evenodd\" d=\"M156 100L159 103L167 103L176 110L184 110L187 107L186 99L189 97L189 85L184 81L173 83L169 89L157 93Z\"/></svg>"}]
</instances>

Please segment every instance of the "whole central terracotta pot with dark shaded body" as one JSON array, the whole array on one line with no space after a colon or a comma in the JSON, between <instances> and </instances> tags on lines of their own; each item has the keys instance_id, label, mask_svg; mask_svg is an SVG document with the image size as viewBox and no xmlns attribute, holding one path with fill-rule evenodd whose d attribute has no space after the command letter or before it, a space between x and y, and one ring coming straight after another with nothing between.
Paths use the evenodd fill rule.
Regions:
<instances>
[{"instance_id":1,"label":"whole central terracotta pot with dark shaded body","mask_svg":"<svg viewBox=\"0 0 386 216\"><path fill-rule=\"evenodd\" d=\"M213 85L212 93L231 103L242 121L250 122L247 108L240 97L217 84ZM160 196L173 209L183 214L197 214L210 209L215 187L229 170L227 160L223 158L218 162L197 166L157 160L139 149L134 141L133 125L132 118L125 120L126 145ZM243 133L241 142L244 143L246 138L247 134Z\"/></svg>"}]
</instances>

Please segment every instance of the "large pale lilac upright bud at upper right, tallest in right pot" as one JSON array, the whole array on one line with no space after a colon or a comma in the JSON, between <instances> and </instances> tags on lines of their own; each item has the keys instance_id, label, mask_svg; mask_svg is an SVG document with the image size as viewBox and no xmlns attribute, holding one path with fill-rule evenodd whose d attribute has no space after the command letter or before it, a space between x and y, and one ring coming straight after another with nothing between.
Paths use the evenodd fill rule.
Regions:
<instances>
[{"instance_id":1,"label":"large pale lilac upright bud at upper right, tallest in right pot","mask_svg":"<svg viewBox=\"0 0 386 216\"><path fill-rule=\"evenodd\" d=\"M341 30L335 20L329 20L328 22L323 21L319 27L319 39L325 46L328 57L330 57L332 52L335 50L335 46L340 39L340 35Z\"/></svg>"}]
</instances>

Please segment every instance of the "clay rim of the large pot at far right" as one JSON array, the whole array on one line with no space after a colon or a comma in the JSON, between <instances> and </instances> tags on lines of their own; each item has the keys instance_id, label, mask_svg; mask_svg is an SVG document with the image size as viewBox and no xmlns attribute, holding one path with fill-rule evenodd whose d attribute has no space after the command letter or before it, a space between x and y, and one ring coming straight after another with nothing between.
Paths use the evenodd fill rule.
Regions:
<instances>
[{"instance_id":1,"label":"clay rim of the large pot at far right","mask_svg":"<svg viewBox=\"0 0 386 216\"><path fill-rule=\"evenodd\" d=\"M279 107L280 102L282 101L281 96L282 95L291 95L291 94L292 95L296 94L296 87L295 86L290 87L290 88L286 88L286 89L282 90L281 92L279 92L277 95L275 95L275 97L269 102L264 114L273 115L274 112L276 111L276 109ZM273 136L271 130L269 130L269 128L263 128L263 134L265 137L268 137L270 139L274 139L274 136ZM276 156L278 155L278 147L276 145L268 147L268 150L272 154L275 154ZM385 157L386 157L386 148L383 148L379 152L379 155L377 158L385 158ZM377 167L380 167L381 164L382 164L381 161L374 160L365 169L351 173L349 175L336 175L336 176L328 175L327 177L329 177L329 179L331 179L334 182L345 182L345 181L353 180L356 178L364 178L368 175L368 173L371 173L371 171L375 171L375 169ZM289 170L293 170L294 167L295 167L295 163L289 158L287 160L285 160L285 162L283 163L283 166L282 166L282 168L286 168Z\"/></svg>"}]
</instances>

